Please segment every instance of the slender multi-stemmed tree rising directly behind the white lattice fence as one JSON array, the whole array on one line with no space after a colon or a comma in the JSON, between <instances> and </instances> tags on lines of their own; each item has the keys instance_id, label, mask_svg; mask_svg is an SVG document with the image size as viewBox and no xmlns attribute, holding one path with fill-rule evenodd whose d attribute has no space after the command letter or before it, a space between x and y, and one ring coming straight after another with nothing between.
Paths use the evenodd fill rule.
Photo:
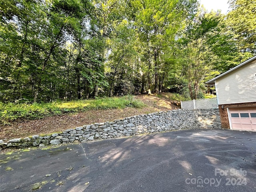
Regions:
<instances>
[{"instance_id":1,"label":"slender multi-stemmed tree rising directly behind the white lattice fence","mask_svg":"<svg viewBox=\"0 0 256 192\"><path fill-rule=\"evenodd\" d=\"M182 55L184 75L188 81L188 90L191 99L197 99L200 85L207 76L213 77L214 61L218 58L212 51L212 38L218 33L218 24L221 16L217 12L198 12L186 30L183 39L184 54Z\"/></svg>"}]
</instances>

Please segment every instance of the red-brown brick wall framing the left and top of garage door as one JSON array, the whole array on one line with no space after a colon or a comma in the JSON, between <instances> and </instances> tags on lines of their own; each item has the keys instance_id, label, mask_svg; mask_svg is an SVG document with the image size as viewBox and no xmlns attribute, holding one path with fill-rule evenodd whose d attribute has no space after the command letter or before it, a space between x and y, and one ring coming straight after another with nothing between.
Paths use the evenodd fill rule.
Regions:
<instances>
[{"instance_id":1,"label":"red-brown brick wall framing the left and top of garage door","mask_svg":"<svg viewBox=\"0 0 256 192\"><path fill-rule=\"evenodd\" d=\"M224 108L222 108L222 106L223 106ZM234 108L234 107L250 107L250 106L256 106L256 102L219 105L219 110L220 110L220 122L221 122L222 128L224 128L224 129L230 129L229 120L228 120L228 110L227 110L227 108L231 108L231 107L232 107L232 108Z\"/></svg>"}]
</instances>

